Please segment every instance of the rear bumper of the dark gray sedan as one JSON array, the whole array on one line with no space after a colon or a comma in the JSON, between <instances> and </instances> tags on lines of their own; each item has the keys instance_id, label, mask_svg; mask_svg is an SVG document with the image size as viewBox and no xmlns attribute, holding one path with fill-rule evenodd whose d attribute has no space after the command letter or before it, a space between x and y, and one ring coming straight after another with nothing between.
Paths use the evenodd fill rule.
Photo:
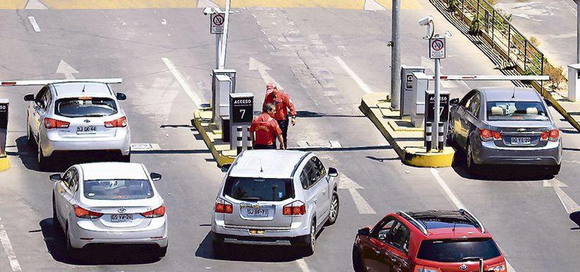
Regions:
<instances>
[{"instance_id":1,"label":"rear bumper of the dark gray sedan","mask_svg":"<svg viewBox=\"0 0 580 272\"><path fill-rule=\"evenodd\" d=\"M473 151L476 164L559 165L562 162L561 142L550 142L543 148L502 148L485 142Z\"/></svg>"}]
</instances>

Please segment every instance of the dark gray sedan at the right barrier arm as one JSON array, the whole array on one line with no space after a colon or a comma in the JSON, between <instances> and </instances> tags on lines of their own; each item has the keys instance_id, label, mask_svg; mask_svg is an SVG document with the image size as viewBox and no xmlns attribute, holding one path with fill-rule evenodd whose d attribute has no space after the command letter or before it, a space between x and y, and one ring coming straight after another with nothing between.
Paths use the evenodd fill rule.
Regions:
<instances>
[{"instance_id":1,"label":"dark gray sedan at the right barrier arm","mask_svg":"<svg viewBox=\"0 0 580 272\"><path fill-rule=\"evenodd\" d=\"M466 165L541 165L557 175L562 138L546 102L530 88L494 87L451 100L448 141L465 152Z\"/></svg>"}]
</instances>

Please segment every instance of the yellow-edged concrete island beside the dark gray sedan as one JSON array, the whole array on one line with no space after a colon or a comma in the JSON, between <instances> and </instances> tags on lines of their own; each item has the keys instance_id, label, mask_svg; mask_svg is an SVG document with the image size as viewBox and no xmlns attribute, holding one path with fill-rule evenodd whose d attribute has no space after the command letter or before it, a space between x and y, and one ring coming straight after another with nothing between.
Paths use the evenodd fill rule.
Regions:
<instances>
[{"instance_id":1,"label":"yellow-edged concrete island beside the dark gray sedan","mask_svg":"<svg viewBox=\"0 0 580 272\"><path fill-rule=\"evenodd\" d=\"M381 131L402 162L418 167L450 167L455 150L446 146L441 153L427 152L423 128L406 126L410 120L400 119L398 112L391 111L390 102L385 97L386 93L364 95L359 109Z\"/></svg>"}]
</instances>

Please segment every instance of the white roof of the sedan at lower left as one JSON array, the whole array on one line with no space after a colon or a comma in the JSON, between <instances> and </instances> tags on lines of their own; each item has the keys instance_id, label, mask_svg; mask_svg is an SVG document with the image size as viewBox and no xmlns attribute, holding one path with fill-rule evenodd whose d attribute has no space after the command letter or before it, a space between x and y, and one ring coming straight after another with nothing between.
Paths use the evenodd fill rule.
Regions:
<instances>
[{"instance_id":1,"label":"white roof of the sedan at lower left","mask_svg":"<svg viewBox=\"0 0 580 272\"><path fill-rule=\"evenodd\" d=\"M149 173L141 163L92 162L79 165L84 180L95 179L148 179Z\"/></svg>"}]
</instances>

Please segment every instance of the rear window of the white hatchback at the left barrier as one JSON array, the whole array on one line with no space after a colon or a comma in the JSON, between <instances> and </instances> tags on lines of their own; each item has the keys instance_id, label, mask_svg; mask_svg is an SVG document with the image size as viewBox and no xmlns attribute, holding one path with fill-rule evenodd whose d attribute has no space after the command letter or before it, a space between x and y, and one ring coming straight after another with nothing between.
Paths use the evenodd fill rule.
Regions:
<instances>
[{"instance_id":1,"label":"rear window of the white hatchback at the left barrier","mask_svg":"<svg viewBox=\"0 0 580 272\"><path fill-rule=\"evenodd\" d=\"M102 117L117 113L115 100L103 97L74 97L57 100L54 114L65 117Z\"/></svg>"}]
</instances>

